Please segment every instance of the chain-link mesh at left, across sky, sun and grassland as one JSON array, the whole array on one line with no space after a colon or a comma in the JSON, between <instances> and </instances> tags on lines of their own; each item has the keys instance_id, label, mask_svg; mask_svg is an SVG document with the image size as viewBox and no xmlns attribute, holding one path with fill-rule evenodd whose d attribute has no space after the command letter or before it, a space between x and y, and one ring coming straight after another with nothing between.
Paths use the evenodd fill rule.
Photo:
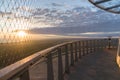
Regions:
<instances>
[{"instance_id":1,"label":"chain-link mesh at left, across sky, sun and grassland","mask_svg":"<svg viewBox=\"0 0 120 80\"><path fill-rule=\"evenodd\" d=\"M0 0L0 68L61 43L58 40L33 41L30 29L37 26L34 16L38 1Z\"/></svg>"}]
</instances>

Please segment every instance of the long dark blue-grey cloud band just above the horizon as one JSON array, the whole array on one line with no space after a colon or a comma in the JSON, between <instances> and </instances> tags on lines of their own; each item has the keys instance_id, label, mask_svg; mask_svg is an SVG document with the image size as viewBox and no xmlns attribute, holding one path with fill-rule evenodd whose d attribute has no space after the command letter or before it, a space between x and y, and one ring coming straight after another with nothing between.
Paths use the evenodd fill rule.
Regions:
<instances>
[{"instance_id":1,"label":"long dark blue-grey cloud band just above the horizon","mask_svg":"<svg viewBox=\"0 0 120 80\"><path fill-rule=\"evenodd\" d=\"M49 27L49 28L34 28L31 29L31 33L35 34L56 34L56 35L69 35L69 36L89 36L89 37L107 37L107 36L119 36L120 23L108 21L105 23L96 23L86 26L73 26L69 27ZM114 26L116 25L116 26Z\"/></svg>"}]
</instances>

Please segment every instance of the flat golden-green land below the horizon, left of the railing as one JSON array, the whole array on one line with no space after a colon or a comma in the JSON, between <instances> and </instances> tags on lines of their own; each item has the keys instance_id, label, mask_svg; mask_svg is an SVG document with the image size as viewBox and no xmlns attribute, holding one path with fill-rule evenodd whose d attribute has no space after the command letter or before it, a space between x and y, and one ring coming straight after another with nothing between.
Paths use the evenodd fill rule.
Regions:
<instances>
[{"instance_id":1,"label":"flat golden-green land below the horizon, left of the railing","mask_svg":"<svg viewBox=\"0 0 120 80\"><path fill-rule=\"evenodd\" d=\"M15 63L38 51L70 40L71 39L45 39L0 44L0 68Z\"/></svg>"}]
</instances>

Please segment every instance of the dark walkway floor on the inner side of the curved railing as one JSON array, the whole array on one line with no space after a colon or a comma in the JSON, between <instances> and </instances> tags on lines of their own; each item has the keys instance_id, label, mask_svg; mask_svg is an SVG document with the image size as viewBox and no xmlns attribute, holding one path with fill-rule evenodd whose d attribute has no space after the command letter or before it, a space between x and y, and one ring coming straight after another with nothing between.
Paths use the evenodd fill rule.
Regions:
<instances>
[{"instance_id":1,"label":"dark walkway floor on the inner side of the curved railing","mask_svg":"<svg viewBox=\"0 0 120 80\"><path fill-rule=\"evenodd\" d=\"M71 68L71 74L65 76L65 80L120 80L116 51L106 49L83 57Z\"/></svg>"}]
</instances>

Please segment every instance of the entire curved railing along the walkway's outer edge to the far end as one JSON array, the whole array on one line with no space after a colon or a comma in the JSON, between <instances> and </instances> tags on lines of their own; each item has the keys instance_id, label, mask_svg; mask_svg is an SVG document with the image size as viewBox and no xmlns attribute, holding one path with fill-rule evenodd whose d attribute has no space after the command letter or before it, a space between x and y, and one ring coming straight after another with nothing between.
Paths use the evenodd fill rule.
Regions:
<instances>
[{"instance_id":1,"label":"entire curved railing along the walkway's outer edge to the far end","mask_svg":"<svg viewBox=\"0 0 120 80\"><path fill-rule=\"evenodd\" d=\"M0 70L0 80L30 80L30 68L44 62L45 80L64 80L70 66L83 56L105 48L117 48L117 39L93 39L63 43L35 53Z\"/></svg>"}]
</instances>

